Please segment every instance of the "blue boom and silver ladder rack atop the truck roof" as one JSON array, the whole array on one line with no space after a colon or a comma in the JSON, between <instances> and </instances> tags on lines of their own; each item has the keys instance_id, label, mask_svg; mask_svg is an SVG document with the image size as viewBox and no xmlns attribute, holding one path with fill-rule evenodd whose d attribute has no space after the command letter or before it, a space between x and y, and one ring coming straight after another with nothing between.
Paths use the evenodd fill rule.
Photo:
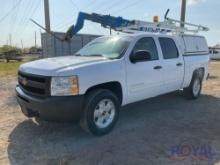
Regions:
<instances>
[{"instance_id":1,"label":"blue boom and silver ladder rack atop the truck roof","mask_svg":"<svg viewBox=\"0 0 220 165\"><path fill-rule=\"evenodd\" d=\"M80 12L75 25L72 25L66 35L65 40L70 40L75 34L77 34L84 26L86 20L101 24L104 28L111 28L115 31L124 33L135 32L155 32L155 33L198 33L199 31L208 31L209 28L195 25L191 23L181 22L179 20L168 18L167 10L163 22L146 22L139 20L128 20L122 17L114 17L110 15L101 15L97 13L84 13ZM186 26L180 27L178 24L184 24ZM189 28L191 27L191 28ZM193 28L192 28L193 27Z\"/></svg>"}]
</instances>

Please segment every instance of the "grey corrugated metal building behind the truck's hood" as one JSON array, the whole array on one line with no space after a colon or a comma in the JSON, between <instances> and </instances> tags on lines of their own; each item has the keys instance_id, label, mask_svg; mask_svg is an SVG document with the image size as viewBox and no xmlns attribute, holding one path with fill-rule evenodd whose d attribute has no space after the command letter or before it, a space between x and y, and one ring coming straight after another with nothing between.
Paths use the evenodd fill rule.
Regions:
<instances>
[{"instance_id":1,"label":"grey corrugated metal building behind the truck's hood","mask_svg":"<svg viewBox=\"0 0 220 165\"><path fill-rule=\"evenodd\" d=\"M65 33L54 33L59 38L64 38ZM77 34L72 39L71 42L61 42L54 36L48 33L41 34L41 44L43 49L43 57L57 57L66 56L76 53L80 48L85 46L91 40L100 37L98 35L90 34Z\"/></svg>"}]
</instances>

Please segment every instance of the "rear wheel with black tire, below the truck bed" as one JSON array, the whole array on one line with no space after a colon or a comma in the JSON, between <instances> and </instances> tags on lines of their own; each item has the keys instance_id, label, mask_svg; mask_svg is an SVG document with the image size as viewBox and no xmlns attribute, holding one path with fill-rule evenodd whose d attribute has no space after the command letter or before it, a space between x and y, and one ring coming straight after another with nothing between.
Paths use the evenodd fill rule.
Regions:
<instances>
[{"instance_id":1,"label":"rear wheel with black tire, below the truck bed","mask_svg":"<svg viewBox=\"0 0 220 165\"><path fill-rule=\"evenodd\" d=\"M196 92L194 91L195 83L199 83L199 86ZM199 98L201 94L201 90L202 90L202 79L199 76L199 74L195 73L191 80L190 86L188 88L184 88L183 92L187 99L195 100Z\"/></svg>"}]
</instances>

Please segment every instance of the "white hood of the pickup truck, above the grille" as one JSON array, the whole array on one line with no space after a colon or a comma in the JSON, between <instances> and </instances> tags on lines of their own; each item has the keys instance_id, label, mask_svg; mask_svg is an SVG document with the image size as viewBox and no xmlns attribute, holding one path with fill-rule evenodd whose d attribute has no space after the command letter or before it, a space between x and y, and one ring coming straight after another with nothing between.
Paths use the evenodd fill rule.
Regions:
<instances>
[{"instance_id":1,"label":"white hood of the pickup truck, above the grille","mask_svg":"<svg viewBox=\"0 0 220 165\"><path fill-rule=\"evenodd\" d=\"M104 57L79 56L47 58L23 64L21 65L19 71L42 76L58 76L57 74L61 70L67 68L73 70L75 68L100 63L106 60L107 59Z\"/></svg>"}]
</instances>

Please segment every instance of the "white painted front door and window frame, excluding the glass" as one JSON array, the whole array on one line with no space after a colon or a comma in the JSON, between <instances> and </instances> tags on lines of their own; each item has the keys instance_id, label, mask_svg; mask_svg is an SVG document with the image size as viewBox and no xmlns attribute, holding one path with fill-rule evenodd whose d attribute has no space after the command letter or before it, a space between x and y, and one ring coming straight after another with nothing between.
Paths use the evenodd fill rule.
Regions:
<instances>
[{"instance_id":1,"label":"white painted front door and window frame, excluding the glass","mask_svg":"<svg viewBox=\"0 0 220 165\"><path fill-rule=\"evenodd\" d=\"M149 35L141 35L134 39L129 48L129 53L125 56L126 75L127 75L127 103L143 100L149 97L154 97L161 94L163 86L163 72L162 70L155 70L155 66L162 65L161 57L154 61L145 61L138 63L130 62L130 54L136 44L141 38L152 37ZM155 40L155 37L153 37ZM156 43L156 42L155 42ZM158 47L158 43L156 43Z\"/></svg>"}]
</instances>

